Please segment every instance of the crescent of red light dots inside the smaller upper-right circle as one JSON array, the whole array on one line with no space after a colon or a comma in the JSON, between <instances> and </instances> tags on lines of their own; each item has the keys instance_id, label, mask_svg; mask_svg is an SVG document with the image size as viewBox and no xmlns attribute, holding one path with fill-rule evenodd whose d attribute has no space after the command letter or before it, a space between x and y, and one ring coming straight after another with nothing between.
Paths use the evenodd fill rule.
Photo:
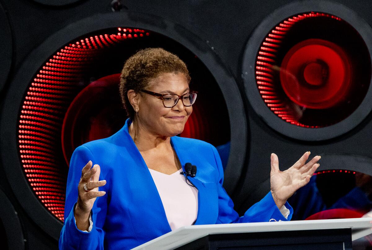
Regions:
<instances>
[{"instance_id":1,"label":"crescent of red light dots inside the smaller upper-right circle","mask_svg":"<svg viewBox=\"0 0 372 250\"><path fill-rule=\"evenodd\" d=\"M329 17L341 21L339 17L332 16L326 13L305 13L294 17L289 17L283 22L279 23L262 42L256 60L256 83L260 91L260 95L270 110L278 117L291 124L302 126L305 128L318 128L319 126L310 126L301 124L297 121L296 115L293 111L288 109L287 103L278 95L278 86L273 82L274 73L278 70L276 65L278 49L285 38L286 33L291 27L301 20L313 17Z\"/></svg>"}]
</instances>

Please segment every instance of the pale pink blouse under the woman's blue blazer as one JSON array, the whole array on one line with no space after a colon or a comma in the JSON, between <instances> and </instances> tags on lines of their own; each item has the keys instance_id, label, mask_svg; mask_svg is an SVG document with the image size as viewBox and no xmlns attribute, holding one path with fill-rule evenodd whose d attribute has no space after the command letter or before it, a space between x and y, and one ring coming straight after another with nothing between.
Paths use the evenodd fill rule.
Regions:
<instances>
[{"instance_id":1,"label":"pale pink blouse under the woman's blue blazer","mask_svg":"<svg viewBox=\"0 0 372 250\"><path fill-rule=\"evenodd\" d=\"M170 175L149 170L171 230L192 225L198 214L198 190L186 183L182 169Z\"/></svg>"}]
</instances>

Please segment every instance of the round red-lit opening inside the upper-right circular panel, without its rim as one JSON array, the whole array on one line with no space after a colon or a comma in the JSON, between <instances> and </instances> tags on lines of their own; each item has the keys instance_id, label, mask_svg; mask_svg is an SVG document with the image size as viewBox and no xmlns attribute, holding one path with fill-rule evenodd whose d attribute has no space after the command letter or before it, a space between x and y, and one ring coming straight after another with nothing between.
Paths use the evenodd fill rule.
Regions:
<instances>
[{"instance_id":1,"label":"round red-lit opening inside the upper-right circular panel, without its rim","mask_svg":"<svg viewBox=\"0 0 372 250\"><path fill-rule=\"evenodd\" d=\"M274 26L259 47L255 67L267 107L305 128L347 118L363 101L371 80L368 49L359 33L341 18L319 12Z\"/></svg>"}]
</instances>

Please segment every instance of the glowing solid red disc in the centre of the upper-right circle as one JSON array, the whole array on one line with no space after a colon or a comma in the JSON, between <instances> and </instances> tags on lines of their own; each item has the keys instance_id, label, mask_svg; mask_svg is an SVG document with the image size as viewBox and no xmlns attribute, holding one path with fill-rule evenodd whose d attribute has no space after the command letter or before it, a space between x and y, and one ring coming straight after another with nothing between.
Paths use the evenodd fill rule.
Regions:
<instances>
[{"instance_id":1,"label":"glowing solid red disc in the centre of the upper-right circle","mask_svg":"<svg viewBox=\"0 0 372 250\"><path fill-rule=\"evenodd\" d=\"M331 108L349 91L349 61L335 43L307 39L286 53L280 66L280 83L289 99L302 107Z\"/></svg>"}]
</instances>

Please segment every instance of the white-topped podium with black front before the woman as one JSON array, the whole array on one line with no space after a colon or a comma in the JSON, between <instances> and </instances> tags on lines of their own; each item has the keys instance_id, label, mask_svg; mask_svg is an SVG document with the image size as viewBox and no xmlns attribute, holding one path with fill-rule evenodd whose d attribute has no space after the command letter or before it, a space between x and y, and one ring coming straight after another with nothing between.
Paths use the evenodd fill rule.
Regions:
<instances>
[{"instance_id":1,"label":"white-topped podium with black front before the woman","mask_svg":"<svg viewBox=\"0 0 372 250\"><path fill-rule=\"evenodd\" d=\"M274 221L181 227L133 250L352 250L372 218Z\"/></svg>"}]
</instances>

